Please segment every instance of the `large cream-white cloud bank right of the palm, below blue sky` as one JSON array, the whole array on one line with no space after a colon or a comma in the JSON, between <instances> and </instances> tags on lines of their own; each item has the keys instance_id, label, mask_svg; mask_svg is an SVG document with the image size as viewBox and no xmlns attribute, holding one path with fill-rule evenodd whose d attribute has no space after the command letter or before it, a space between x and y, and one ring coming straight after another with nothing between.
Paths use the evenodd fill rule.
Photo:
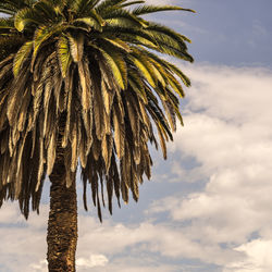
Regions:
<instances>
[{"instance_id":1,"label":"large cream-white cloud bank right of the palm, below blue sky","mask_svg":"<svg viewBox=\"0 0 272 272\"><path fill-rule=\"evenodd\" d=\"M158 200L149 212L188 222L182 231L191 240L244 254L232 271L272 271L271 262L261 264L272 236L271 71L199 65L187 74L185 127L170 149L199 163L181 173L194 171L208 183L205 190ZM249 243L252 233L262 243Z\"/></svg>"}]
</instances>

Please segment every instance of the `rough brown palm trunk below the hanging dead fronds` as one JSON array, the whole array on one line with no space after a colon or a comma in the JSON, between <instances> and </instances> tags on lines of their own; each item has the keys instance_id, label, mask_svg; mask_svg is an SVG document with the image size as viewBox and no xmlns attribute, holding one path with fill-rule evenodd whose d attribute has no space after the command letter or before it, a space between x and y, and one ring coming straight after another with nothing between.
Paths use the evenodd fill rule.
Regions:
<instances>
[{"instance_id":1,"label":"rough brown palm trunk below the hanging dead fronds","mask_svg":"<svg viewBox=\"0 0 272 272\"><path fill-rule=\"evenodd\" d=\"M77 200L76 181L66 187L64 152L61 139L65 116L60 119L60 131L57 141L55 161L51 175L50 212L47 230L48 270L49 272L75 272L75 251L77 244Z\"/></svg>"}]
</instances>

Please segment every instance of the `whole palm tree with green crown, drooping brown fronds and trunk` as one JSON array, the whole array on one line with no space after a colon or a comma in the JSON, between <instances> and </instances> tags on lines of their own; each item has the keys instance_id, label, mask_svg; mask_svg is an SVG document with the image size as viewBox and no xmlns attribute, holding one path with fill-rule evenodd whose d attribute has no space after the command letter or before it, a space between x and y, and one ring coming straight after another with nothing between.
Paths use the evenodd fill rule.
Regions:
<instances>
[{"instance_id":1,"label":"whole palm tree with green crown, drooping brown fronds and trunk","mask_svg":"<svg viewBox=\"0 0 272 272\"><path fill-rule=\"evenodd\" d=\"M129 190L137 201L151 176L148 143L159 138L166 159L182 122L181 82L190 82L161 55L193 62L189 39L141 15L191 10L144 3L1 0L0 206L38 212L49 176L49 271L75 271L78 161L85 209L89 184L101 220L103 187L110 213L113 194L119 205Z\"/></svg>"}]
</instances>

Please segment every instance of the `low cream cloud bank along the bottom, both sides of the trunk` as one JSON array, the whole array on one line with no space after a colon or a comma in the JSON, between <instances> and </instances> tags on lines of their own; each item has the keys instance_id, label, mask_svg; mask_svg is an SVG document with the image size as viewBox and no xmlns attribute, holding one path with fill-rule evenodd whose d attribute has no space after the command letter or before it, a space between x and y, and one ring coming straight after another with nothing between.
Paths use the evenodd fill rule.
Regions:
<instances>
[{"instance_id":1,"label":"low cream cloud bank along the bottom, both sides of the trunk","mask_svg":"<svg viewBox=\"0 0 272 272\"><path fill-rule=\"evenodd\" d=\"M16 210L14 206L9 208ZM26 223L12 228L1 228L0 263L8 271L46 272L47 208L41 207L38 224ZM18 215L18 214L16 214ZM11 219L10 224L16 217ZM42 222L44 221L44 222ZM40 227L42 225L42 227ZM178 243L177 243L178 242ZM203 252L205 249L205 252ZM206 262L224 264L238 261L239 252L233 254L219 246L202 247L178 228L168 224L141 222L139 224L116 224L106 221L102 225L92 218L79 215L79 239L77 271L187 271L187 264L163 263L157 255L178 260L196 258ZM131 261L133 260L133 262Z\"/></svg>"}]
</instances>

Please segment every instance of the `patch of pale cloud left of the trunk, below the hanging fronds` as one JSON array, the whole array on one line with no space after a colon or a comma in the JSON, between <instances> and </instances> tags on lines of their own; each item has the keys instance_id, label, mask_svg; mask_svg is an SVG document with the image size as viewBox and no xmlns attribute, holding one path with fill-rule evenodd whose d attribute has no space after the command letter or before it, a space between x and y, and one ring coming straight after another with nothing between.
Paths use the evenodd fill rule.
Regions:
<instances>
[{"instance_id":1,"label":"patch of pale cloud left of the trunk, below the hanging fronds","mask_svg":"<svg viewBox=\"0 0 272 272\"><path fill-rule=\"evenodd\" d=\"M39 217L33 213L25 221L16 205L5 203L1 208L0 264L4 265L4 271L46 271L44 259L47 212L48 209L42 206Z\"/></svg>"}]
</instances>

